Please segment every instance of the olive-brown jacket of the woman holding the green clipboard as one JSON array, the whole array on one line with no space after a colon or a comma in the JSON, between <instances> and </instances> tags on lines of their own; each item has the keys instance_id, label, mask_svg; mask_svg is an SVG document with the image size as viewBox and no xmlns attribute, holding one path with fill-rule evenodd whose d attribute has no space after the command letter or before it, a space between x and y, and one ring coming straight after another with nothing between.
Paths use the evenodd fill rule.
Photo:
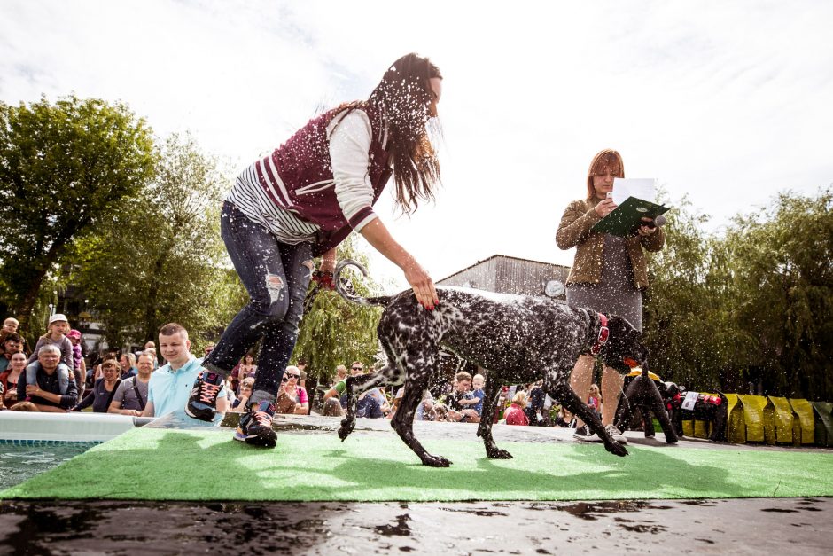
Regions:
<instances>
[{"instance_id":1,"label":"olive-brown jacket of the woman holding the green clipboard","mask_svg":"<svg viewBox=\"0 0 833 556\"><path fill-rule=\"evenodd\" d=\"M576 247L575 262L572 264L567 285L598 284L602 279L604 234L590 231L602 219L593 209L600 199L574 200L564 211L556 232L556 244L561 249ZM659 251L666 243L662 228L642 238L634 235L627 238L627 254L634 266L634 286L648 287L648 263L642 247L647 251Z\"/></svg>"}]
</instances>

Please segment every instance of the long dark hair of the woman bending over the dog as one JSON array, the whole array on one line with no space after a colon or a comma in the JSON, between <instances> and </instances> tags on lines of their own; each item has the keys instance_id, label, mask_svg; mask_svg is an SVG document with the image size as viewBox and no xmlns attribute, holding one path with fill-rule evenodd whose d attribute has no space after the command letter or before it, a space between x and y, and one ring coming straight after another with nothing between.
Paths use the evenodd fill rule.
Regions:
<instances>
[{"instance_id":1,"label":"long dark hair of the woman bending over the dog","mask_svg":"<svg viewBox=\"0 0 833 556\"><path fill-rule=\"evenodd\" d=\"M411 52L393 62L366 101L343 106L353 110L370 105L385 114L396 204L407 214L416 210L418 200L433 200L433 190L440 183L440 161L427 129L433 77L442 79L440 68Z\"/></svg>"}]
</instances>

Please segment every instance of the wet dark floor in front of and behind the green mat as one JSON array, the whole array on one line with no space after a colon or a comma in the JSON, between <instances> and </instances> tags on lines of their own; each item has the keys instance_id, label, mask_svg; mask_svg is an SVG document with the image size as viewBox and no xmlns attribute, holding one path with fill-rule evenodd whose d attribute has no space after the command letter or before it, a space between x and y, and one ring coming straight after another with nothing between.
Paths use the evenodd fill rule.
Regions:
<instances>
[{"instance_id":1,"label":"wet dark floor in front of and behind the green mat","mask_svg":"<svg viewBox=\"0 0 833 556\"><path fill-rule=\"evenodd\" d=\"M334 434L338 419L280 419ZM475 427L417 423L474 439ZM390 435L381 419L356 433ZM494 427L497 442L572 442L572 431ZM631 444L664 444L628 433ZM699 440L687 447L714 448ZM737 450L738 446L732 446ZM673 446L668 446L673 450ZM747 446L749 450L789 450ZM207 468L206 470L207 471ZM828 554L833 498L481 503L0 502L0 554Z\"/></svg>"}]
</instances>

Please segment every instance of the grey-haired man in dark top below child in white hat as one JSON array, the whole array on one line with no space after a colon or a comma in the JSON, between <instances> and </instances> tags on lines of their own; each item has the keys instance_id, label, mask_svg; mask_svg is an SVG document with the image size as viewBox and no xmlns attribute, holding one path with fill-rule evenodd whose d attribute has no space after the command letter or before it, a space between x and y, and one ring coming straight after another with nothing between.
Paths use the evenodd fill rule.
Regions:
<instances>
[{"instance_id":1,"label":"grey-haired man in dark top below child in white hat","mask_svg":"<svg viewBox=\"0 0 833 556\"><path fill-rule=\"evenodd\" d=\"M61 349L47 343L38 348L37 361L20 374L18 400L35 403L39 411L69 411L78 402L78 387L69 380L71 374L61 363Z\"/></svg>"}]
</instances>

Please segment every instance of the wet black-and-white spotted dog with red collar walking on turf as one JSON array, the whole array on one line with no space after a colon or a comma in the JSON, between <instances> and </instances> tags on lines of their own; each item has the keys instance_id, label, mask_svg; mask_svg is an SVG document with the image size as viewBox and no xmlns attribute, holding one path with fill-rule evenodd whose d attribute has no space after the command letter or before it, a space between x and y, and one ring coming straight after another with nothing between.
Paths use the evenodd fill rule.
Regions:
<instances>
[{"instance_id":1,"label":"wet black-and-white spotted dog with red collar walking on turf","mask_svg":"<svg viewBox=\"0 0 833 556\"><path fill-rule=\"evenodd\" d=\"M416 440L416 407L437 368L440 348L447 349L484 370L483 415L478 436L489 458L506 459L492 437L492 419L502 384L533 382L543 378L544 391L578 415L604 442L606 450L626 456L572 388L570 372L580 354L598 354L619 372L641 364L648 356L638 333L626 319L573 309L525 295L492 294L456 287L437 287L440 303L433 310L416 302L412 291L393 296L363 298L347 292L340 273L361 264L341 261L336 267L336 291L346 300L385 307L379 320L378 340L387 355L385 367L346 381L347 413L339 437L345 440L355 427L356 395L380 384L405 382L404 395L391 426L426 466L448 467L451 462L428 453Z\"/></svg>"}]
</instances>

